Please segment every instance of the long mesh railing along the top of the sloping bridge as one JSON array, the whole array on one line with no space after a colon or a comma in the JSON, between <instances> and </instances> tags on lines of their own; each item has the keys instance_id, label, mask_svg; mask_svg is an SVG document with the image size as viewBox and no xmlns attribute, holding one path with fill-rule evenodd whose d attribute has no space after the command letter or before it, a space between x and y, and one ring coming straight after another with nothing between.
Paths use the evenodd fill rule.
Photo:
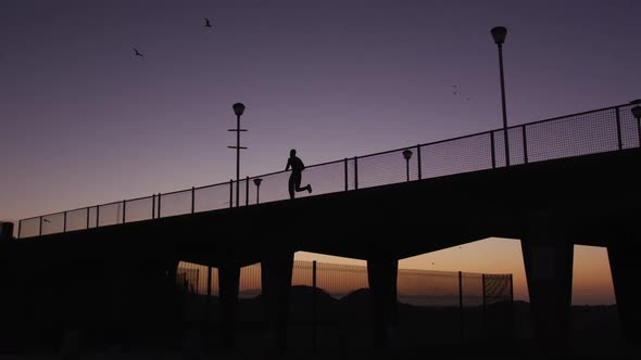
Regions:
<instances>
[{"instance_id":1,"label":"long mesh railing along the top of the sloping bridge","mask_svg":"<svg viewBox=\"0 0 641 360\"><path fill-rule=\"evenodd\" d=\"M632 106L634 104L624 104L508 127L510 165L639 147L641 126L630 112ZM302 185L311 183L313 193L300 192L296 196L313 196L505 167L507 162L503 131L485 131L312 165L303 172ZM289 198L289 173L277 171L247 177L238 183L230 180L22 219L18 222L17 237L281 201Z\"/></svg>"}]
</instances>

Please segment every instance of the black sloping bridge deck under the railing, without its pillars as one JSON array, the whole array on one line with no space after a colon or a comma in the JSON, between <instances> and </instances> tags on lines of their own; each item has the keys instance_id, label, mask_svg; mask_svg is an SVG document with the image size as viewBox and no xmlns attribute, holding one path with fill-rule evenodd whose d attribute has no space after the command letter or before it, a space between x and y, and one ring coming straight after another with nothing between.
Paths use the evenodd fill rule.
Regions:
<instances>
[{"instance_id":1,"label":"black sloping bridge deck under the railing, without its pillars","mask_svg":"<svg viewBox=\"0 0 641 360\"><path fill-rule=\"evenodd\" d=\"M553 222L575 244L634 226L639 149L410 181L12 242L32 256L253 263L305 250L367 259L415 256Z\"/></svg>"}]
</instances>

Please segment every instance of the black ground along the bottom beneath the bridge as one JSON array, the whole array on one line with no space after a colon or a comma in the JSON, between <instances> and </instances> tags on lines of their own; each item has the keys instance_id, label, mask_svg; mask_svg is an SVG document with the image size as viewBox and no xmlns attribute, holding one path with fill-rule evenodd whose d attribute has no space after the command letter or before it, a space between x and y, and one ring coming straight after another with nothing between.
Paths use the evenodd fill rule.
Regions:
<instances>
[{"instance_id":1,"label":"black ground along the bottom beneath the bridge","mask_svg":"<svg viewBox=\"0 0 641 360\"><path fill-rule=\"evenodd\" d=\"M546 358L551 355L634 356L641 347L626 344L620 335L616 306L573 307L571 345L563 351L542 347L531 334L529 304L508 304L466 308L399 306L398 326L390 348L376 348L370 340L368 293L356 291L340 300L316 293L316 350L310 288L292 291L288 350L285 356L266 346L260 298L241 299L237 329L237 347L224 351L218 345L215 312L211 325L199 325L202 335L189 335L187 326L176 334L180 338L144 342L130 340L122 349L101 342L99 333L81 335L81 359L455 359L479 356L515 359ZM181 312L185 320L206 319L205 299L186 297ZM215 308L215 300L212 303ZM185 322L184 324L187 324ZM197 334L198 332L196 332ZM194 334L194 333L192 333ZM131 337L144 337L130 334ZM50 342L51 343L51 342ZM0 359L62 359L61 347L36 346L0 349Z\"/></svg>"}]
</instances>

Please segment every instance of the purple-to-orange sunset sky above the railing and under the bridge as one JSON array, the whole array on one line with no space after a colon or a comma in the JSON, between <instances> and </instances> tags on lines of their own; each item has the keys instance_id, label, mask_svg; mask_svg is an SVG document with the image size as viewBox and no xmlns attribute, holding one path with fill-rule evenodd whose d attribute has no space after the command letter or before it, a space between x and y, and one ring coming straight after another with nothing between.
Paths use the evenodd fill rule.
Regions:
<instances>
[{"instance_id":1,"label":"purple-to-orange sunset sky above the railing and under the bridge","mask_svg":"<svg viewBox=\"0 0 641 360\"><path fill-rule=\"evenodd\" d=\"M228 181L236 102L242 177L282 170L292 147L312 165L500 128L499 25L510 125L627 103L641 98L640 13L638 0L3 0L0 220ZM401 266L512 272L527 299L515 240ZM575 304L614 303L603 248L576 247L575 271Z\"/></svg>"}]
</instances>

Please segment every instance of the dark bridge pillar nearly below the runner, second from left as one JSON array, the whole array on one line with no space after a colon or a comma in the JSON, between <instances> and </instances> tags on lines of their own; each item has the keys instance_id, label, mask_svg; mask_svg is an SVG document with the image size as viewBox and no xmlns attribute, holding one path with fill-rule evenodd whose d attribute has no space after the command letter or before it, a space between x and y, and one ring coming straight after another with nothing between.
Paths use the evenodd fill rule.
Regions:
<instances>
[{"instance_id":1,"label":"dark bridge pillar nearly below the runner, second from left","mask_svg":"<svg viewBox=\"0 0 641 360\"><path fill-rule=\"evenodd\" d=\"M267 347L287 348L287 318L293 253L271 254L261 262L261 282L267 320Z\"/></svg>"}]
</instances>

